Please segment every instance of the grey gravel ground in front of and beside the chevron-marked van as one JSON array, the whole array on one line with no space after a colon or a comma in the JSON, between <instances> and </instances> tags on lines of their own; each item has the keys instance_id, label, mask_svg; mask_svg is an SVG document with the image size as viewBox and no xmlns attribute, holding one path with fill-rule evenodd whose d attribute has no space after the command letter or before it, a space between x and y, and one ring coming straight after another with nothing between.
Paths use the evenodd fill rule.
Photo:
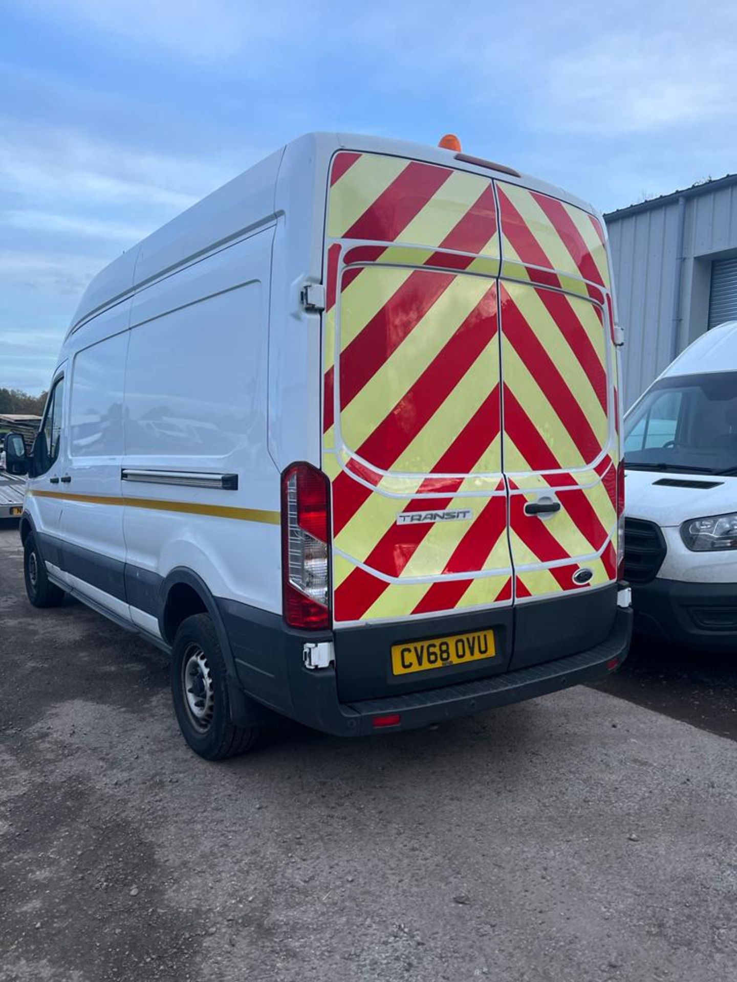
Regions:
<instances>
[{"instance_id":1,"label":"grey gravel ground in front of and beside the chevron-marked van","mask_svg":"<svg viewBox=\"0 0 737 982\"><path fill-rule=\"evenodd\" d=\"M0 531L0 982L733 982L728 739L591 688L195 757L165 658Z\"/></svg>"}]
</instances>

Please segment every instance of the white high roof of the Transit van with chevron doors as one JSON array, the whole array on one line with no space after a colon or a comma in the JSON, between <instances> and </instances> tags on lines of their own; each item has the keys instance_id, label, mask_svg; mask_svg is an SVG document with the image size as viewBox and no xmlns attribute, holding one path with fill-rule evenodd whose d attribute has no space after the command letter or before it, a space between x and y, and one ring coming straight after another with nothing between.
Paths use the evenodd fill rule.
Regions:
<instances>
[{"instance_id":1,"label":"white high roof of the Transit van with chevron doors","mask_svg":"<svg viewBox=\"0 0 737 982\"><path fill-rule=\"evenodd\" d=\"M87 286L72 318L67 337L103 308L124 300L135 288L197 258L199 253L225 245L228 241L238 239L272 221L277 211L276 185L279 170L285 154L293 148L302 150L306 161L311 157L312 160L318 157L329 159L337 150L352 149L425 160L445 166L452 164L461 170L493 176L550 194L600 218L599 212L591 204L567 191L530 175L520 174L516 178L505 170L495 171L493 168L456 160L453 150L382 136L310 133L292 140L222 188L203 197L197 204L102 269Z\"/></svg>"}]
</instances>

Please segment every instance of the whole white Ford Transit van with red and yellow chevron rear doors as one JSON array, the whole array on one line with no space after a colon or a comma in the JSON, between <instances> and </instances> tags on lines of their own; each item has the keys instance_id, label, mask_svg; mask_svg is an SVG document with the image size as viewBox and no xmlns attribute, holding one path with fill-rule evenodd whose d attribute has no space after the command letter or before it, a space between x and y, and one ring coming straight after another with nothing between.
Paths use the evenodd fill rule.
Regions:
<instances>
[{"instance_id":1,"label":"whole white Ford Transit van with red and yellow chevron rear doors","mask_svg":"<svg viewBox=\"0 0 737 982\"><path fill-rule=\"evenodd\" d=\"M28 597L172 654L182 732L426 726L625 657L604 226L454 149L304 136L90 284ZM503 368L503 382L502 382Z\"/></svg>"}]
</instances>

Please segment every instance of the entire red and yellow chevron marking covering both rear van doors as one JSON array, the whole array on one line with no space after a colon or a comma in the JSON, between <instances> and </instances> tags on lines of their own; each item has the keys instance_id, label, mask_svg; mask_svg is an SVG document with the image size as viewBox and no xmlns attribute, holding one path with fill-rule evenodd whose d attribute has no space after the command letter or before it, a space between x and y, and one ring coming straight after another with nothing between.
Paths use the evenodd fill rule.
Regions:
<instances>
[{"instance_id":1,"label":"entire red and yellow chevron marking covering both rear van doors","mask_svg":"<svg viewBox=\"0 0 737 982\"><path fill-rule=\"evenodd\" d=\"M580 559L591 584L612 578L612 393L589 300L608 299L608 279L593 219L500 185L503 255L524 282L497 286L490 180L342 152L330 183L323 467L336 622L587 588L572 580ZM544 522L523 512L540 488L563 505ZM397 522L458 510L471 515Z\"/></svg>"}]
</instances>

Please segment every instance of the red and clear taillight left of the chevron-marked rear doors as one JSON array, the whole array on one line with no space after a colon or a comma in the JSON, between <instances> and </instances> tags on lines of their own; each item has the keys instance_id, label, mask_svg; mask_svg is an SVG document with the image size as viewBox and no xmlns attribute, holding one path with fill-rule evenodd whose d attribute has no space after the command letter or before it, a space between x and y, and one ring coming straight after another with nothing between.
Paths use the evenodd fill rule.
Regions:
<instances>
[{"instance_id":1,"label":"red and clear taillight left of the chevron-marked rear doors","mask_svg":"<svg viewBox=\"0 0 737 982\"><path fill-rule=\"evenodd\" d=\"M329 485L312 464L281 478L282 593L289 627L330 627Z\"/></svg>"}]
</instances>

